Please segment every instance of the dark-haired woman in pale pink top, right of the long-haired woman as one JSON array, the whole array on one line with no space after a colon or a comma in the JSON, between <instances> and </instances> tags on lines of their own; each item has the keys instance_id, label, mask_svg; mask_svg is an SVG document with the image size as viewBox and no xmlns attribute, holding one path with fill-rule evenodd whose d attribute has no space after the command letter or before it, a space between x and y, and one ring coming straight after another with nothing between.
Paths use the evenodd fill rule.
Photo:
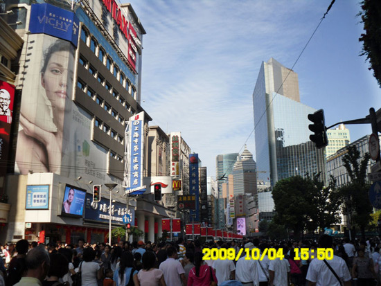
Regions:
<instances>
[{"instance_id":1,"label":"dark-haired woman in pale pink top, right of the long-haired woman","mask_svg":"<svg viewBox=\"0 0 381 286\"><path fill-rule=\"evenodd\" d=\"M156 257L152 251L143 254L143 269L134 276L135 286L166 286L163 271L154 268Z\"/></svg>"}]
</instances>

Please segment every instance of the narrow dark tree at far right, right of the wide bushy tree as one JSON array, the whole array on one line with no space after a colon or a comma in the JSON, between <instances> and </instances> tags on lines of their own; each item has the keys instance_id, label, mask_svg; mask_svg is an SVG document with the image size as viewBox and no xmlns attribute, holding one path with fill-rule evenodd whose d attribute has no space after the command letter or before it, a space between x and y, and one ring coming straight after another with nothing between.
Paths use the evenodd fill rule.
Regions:
<instances>
[{"instance_id":1,"label":"narrow dark tree at far right, right of the wide bushy tree","mask_svg":"<svg viewBox=\"0 0 381 286\"><path fill-rule=\"evenodd\" d=\"M342 186L339 192L344 199L344 213L349 217L349 224L360 226L362 238L365 239L365 228L371 221L372 206L369 201L369 184L366 183L366 167L369 153L360 158L360 151L355 145L349 146L343 157L343 165L351 181Z\"/></svg>"}]
</instances>

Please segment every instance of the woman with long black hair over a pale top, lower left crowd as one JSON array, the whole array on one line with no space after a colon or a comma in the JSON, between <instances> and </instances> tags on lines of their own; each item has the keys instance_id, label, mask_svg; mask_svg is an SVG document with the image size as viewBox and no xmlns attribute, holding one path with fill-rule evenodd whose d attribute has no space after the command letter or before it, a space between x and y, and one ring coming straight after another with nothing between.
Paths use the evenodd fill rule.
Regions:
<instances>
[{"instance_id":1,"label":"woman with long black hair over a pale top, lower left crowd","mask_svg":"<svg viewBox=\"0 0 381 286\"><path fill-rule=\"evenodd\" d=\"M134 256L130 251L122 253L119 267L114 271L114 286L130 285L133 283L134 276L138 275L138 271L134 269Z\"/></svg>"}]
</instances>

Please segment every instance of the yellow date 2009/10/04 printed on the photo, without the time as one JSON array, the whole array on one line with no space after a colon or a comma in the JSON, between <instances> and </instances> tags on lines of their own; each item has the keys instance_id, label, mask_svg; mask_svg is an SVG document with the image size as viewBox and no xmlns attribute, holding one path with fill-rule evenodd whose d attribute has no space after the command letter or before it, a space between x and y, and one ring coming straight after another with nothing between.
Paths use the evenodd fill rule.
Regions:
<instances>
[{"instance_id":1,"label":"yellow date 2009/10/04 printed on the photo, without the time","mask_svg":"<svg viewBox=\"0 0 381 286\"><path fill-rule=\"evenodd\" d=\"M274 260L276 258L283 259L285 256L283 255L283 249L274 249L268 248L264 249L262 253L260 253L260 249L247 249L242 248L237 253L235 249L202 249L202 253L204 256L203 260L238 260L241 256L245 257L245 260L263 260L266 256L269 260Z\"/></svg>"}]
</instances>

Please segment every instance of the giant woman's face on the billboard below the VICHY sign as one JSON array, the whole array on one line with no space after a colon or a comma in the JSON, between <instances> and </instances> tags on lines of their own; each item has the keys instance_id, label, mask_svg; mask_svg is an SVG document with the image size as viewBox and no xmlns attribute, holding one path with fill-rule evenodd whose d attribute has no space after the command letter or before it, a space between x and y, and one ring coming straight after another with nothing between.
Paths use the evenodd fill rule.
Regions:
<instances>
[{"instance_id":1,"label":"giant woman's face on the billboard below the VICHY sign","mask_svg":"<svg viewBox=\"0 0 381 286\"><path fill-rule=\"evenodd\" d=\"M42 87L52 106L58 110L64 110L65 98L69 97L71 89L73 71L68 70L68 62L69 51L57 51L51 55L46 71L42 74Z\"/></svg>"}]
</instances>

